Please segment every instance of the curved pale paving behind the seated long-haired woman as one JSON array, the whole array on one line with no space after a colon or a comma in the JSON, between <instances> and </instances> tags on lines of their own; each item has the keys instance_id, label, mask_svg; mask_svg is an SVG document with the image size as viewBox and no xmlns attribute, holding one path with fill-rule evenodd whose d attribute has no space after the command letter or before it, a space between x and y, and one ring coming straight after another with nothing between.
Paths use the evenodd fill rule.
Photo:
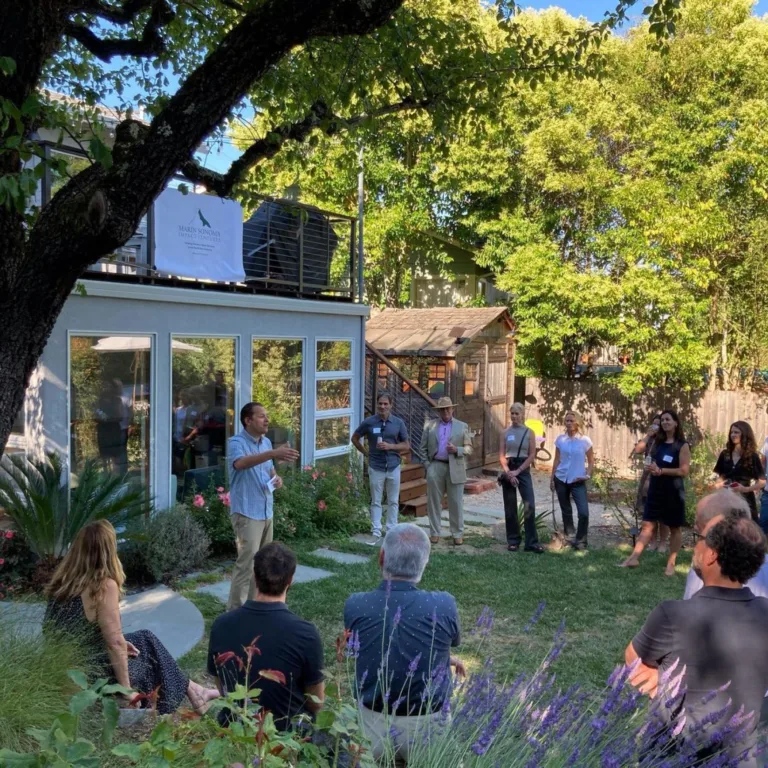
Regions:
<instances>
[{"instance_id":1,"label":"curved pale paving behind the seated long-haired woman","mask_svg":"<svg viewBox=\"0 0 768 768\"><path fill-rule=\"evenodd\" d=\"M11 617L18 631L37 637L42 631L44 603L0 603L0 617ZM120 602L123 632L149 629L174 659L191 651L202 639L205 624L194 603L165 586L128 595Z\"/></svg>"}]
</instances>

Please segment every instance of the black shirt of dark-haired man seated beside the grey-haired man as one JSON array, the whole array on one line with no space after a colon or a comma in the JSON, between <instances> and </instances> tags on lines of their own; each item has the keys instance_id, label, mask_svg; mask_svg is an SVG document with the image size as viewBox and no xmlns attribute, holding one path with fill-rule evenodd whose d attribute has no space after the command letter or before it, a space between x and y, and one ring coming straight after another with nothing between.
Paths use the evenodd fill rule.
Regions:
<instances>
[{"instance_id":1,"label":"black shirt of dark-haired man seated beside the grey-haired man","mask_svg":"<svg viewBox=\"0 0 768 768\"><path fill-rule=\"evenodd\" d=\"M243 662L245 648L257 638L251 662L251 688L261 689L259 703L272 712L281 730L290 726L291 718L306 712L307 687L323 680L323 644L317 627L288 610L285 603L262 603L249 600L241 608L222 614L211 627L208 643L208 672L218 675L222 689L230 692L245 683L245 671L234 659L216 666L220 653L232 651ZM276 669L285 675L285 685L258 679L258 670Z\"/></svg>"}]
</instances>

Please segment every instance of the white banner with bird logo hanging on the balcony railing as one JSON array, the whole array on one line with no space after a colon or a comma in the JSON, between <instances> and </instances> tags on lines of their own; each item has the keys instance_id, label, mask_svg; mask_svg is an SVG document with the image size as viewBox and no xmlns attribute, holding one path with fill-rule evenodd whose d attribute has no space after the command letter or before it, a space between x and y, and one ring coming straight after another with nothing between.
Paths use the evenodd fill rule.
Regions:
<instances>
[{"instance_id":1,"label":"white banner with bird logo hanging on the balcony railing","mask_svg":"<svg viewBox=\"0 0 768 768\"><path fill-rule=\"evenodd\" d=\"M155 200L155 269L180 277L242 283L243 211L213 195L166 189Z\"/></svg>"}]
</instances>

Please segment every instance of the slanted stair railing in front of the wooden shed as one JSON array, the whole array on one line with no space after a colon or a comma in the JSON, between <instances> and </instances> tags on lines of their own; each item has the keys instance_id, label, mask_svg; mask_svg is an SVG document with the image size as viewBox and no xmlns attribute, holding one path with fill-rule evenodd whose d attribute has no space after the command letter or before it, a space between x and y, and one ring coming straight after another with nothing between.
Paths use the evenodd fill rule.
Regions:
<instances>
[{"instance_id":1,"label":"slanted stair railing in front of the wooden shed","mask_svg":"<svg viewBox=\"0 0 768 768\"><path fill-rule=\"evenodd\" d=\"M380 367L380 364L383 365ZM423 462L421 436L424 425L435 414L437 403L418 384L411 381L394 363L365 342L365 411L376 412L376 400L382 391L392 397L392 413L405 422L411 441L411 455Z\"/></svg>"}]
</instances>

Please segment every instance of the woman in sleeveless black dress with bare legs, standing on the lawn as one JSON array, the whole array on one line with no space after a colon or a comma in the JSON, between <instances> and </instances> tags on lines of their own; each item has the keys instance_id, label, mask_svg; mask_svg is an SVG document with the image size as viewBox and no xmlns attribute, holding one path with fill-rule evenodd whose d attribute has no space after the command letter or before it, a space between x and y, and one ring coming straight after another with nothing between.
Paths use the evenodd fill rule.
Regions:
<instances>
[{"instance_id":1,"label":"woman in sleeveless black dress with bare legs, standing on the lawn","mask_svg":"<svg viewBox=\"0 0 768 768\"><path fill-rule=\"evenodd\" d=\"M621 566L636 568L640 565L640 555L648 546L654 527L660 523L669 527L669 555L664 575L674 576L677 553L683 543L681 528L685 524L685 478L691 470L691 449L675 411L662 412L661 439L651 458L643 528L632 554Z\"/></svg>"}]
</instances>

